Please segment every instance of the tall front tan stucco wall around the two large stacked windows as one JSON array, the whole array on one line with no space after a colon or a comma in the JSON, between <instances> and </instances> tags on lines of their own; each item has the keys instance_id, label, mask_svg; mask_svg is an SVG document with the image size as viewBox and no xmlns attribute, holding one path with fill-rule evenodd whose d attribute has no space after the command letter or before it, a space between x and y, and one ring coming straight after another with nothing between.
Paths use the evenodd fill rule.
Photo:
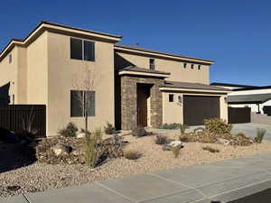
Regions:
<instances>
[{"instance_id":1,"label":"tall front tan stucco wall around the two large stacked windows","mask_svg":"<svg viewBox=\"0 0 271 203\"><path fill-rule=\"evenodd\" d=\"M89 39L91 40L91 39ZM70 90L77 89L75 78L86 78L93 69L96 115L89 117L89 128L114 125L114 47L95 42L95 61L70 59L70 36L48 32L48 134L55 135L64 125L74 122L84 127L83 117L70 117ZM103 128L102 128L103 129Z\"/></svg>"}]
</instances>

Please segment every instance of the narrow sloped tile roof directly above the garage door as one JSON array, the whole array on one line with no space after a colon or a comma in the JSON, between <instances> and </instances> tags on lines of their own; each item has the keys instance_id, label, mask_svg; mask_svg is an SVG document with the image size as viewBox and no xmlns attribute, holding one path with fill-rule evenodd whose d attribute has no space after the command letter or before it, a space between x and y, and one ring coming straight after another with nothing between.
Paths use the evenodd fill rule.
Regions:
<instances>
[{"instance_id":1,"label":"narrow sloped tile roof directly above the garage door","mask_svg":"<svg viewBox=\"0 0 271 203\"><path fill-rule=\"evenodd\" d=\"M195 88L195 89L229 91L228 88L220 88L201 83L177 82L177 81L166 81L164 83L164 88Z\"/></svg>"}]
</instances>

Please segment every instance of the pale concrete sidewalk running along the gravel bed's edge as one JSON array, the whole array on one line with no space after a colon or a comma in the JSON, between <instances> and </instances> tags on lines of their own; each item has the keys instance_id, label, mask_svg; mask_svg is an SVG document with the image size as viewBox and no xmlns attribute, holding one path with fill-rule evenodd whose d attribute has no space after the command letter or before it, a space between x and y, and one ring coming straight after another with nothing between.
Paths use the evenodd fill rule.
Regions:
<instances>
[{"instance_id":1,"label":"pale concrete sidewalk running along the gravel bed's edge","mask_svg":"<svg viewBox=\"0 0 271 203\"><path fill-rule=\"evenodd\" d=\"M52 189L0 203L228 202L271 188L271 154Z\"/></svg>"}]
</instances>

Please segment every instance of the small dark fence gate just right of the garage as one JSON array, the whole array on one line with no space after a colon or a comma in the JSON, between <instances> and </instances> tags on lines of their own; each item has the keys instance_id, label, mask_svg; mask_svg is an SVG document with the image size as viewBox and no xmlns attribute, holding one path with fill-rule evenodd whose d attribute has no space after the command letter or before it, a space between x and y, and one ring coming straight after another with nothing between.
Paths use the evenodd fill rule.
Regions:
<instances>
[{"instance_id":1,"label":"small dark fence gate just right of the garage","mask_svg":"<svg viewBox=\"0 0 271 203\"><path fill-rule=\"evenodd\" d=\"M228 122L229 124L246 124L251 123L250 107L229 107Z\"/></svg>"}]
</instances>

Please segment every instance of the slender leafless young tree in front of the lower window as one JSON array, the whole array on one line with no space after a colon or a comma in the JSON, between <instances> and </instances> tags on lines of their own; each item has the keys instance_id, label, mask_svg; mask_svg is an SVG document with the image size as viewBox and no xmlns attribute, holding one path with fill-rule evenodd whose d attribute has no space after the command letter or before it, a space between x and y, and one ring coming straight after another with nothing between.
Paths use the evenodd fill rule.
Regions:
<instances>
[{"instance_id":1,"label":"slender leafless young tree in front of the lower window","mask_svg":"<svg viewBox=\"0 0 271 203\"><path fill-rule=\"evenodd\" d=\"M95 90L95 73L94 69L89 66L88 61L83 61L83 66L79 68L77 74L73 77L73 88L76 90L75 98L79 102L79 107L82 111L85 120L83 128L86 136L89 133L89 106L91 100L91 91Z\"/></svg>"}]
</instances>

